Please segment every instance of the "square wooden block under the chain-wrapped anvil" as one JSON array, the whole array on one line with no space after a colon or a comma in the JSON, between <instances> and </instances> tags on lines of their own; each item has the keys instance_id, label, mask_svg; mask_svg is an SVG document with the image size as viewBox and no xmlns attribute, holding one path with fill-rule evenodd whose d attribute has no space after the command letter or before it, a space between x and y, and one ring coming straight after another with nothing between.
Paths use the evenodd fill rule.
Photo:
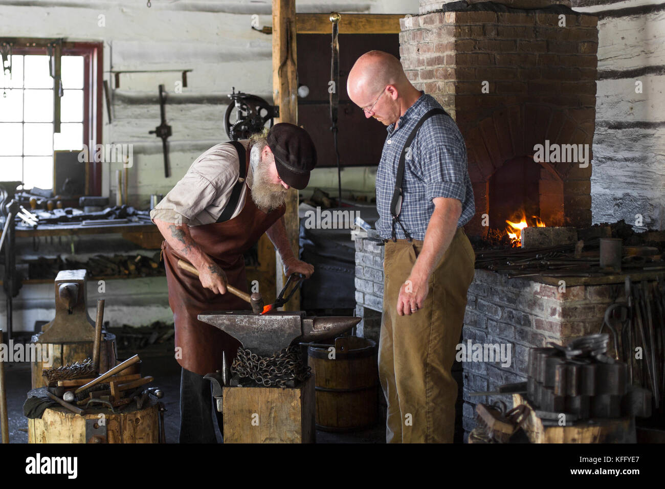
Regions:
<instances>
[{"instance_id":1,"label":"square wooden block under the chain-wrapped anvil","mask_svg":"<svg viewBox=\"0 0 665 489\"><path fill-rule=\"evenodd\" d=\"M314 378L299 387L224 387L225 443L313 443Z\"/></svg>"}]
</instances>

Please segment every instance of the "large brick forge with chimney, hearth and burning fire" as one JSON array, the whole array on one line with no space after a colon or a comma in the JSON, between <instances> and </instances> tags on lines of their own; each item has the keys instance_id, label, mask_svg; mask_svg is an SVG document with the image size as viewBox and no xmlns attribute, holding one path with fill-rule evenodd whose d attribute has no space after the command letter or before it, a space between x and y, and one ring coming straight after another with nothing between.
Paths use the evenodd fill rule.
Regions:
<instances>
[{"instance_id":1,"label":"large brick forge with chimney, hearth and burning fire","mask_svg":"<svg viewBox=\"0 0 665 489\"><path fill-rule=\"evenodd\" d=\"M465 440L479 403L510 402L471 393L526 381L529 349L599 333L608 308L630 300L635 289L662 292L665 271L662 233L638 237L622 222L591 226L597 17L555 2L529 10L508 4L514 5L428 5L402 21L400 34L409 79L437 98L466 140L475 216L465 230L476 271L460 344L512 352L509 365L454 364ZM527 228L523 234L535 245L522 248L527 224L546 227ZM513 244L495 239L508 232L515 234ZM623 238L622 273L600 270L600 240L610 237ZM660 242L653 255L629 256L650 253L644 247L650 240ZM380 331L383 253L370 240L356 241L358 331L372 338ZM648 385L648 373L640 375L635 384Z\"/></svg>"}]
</instances>

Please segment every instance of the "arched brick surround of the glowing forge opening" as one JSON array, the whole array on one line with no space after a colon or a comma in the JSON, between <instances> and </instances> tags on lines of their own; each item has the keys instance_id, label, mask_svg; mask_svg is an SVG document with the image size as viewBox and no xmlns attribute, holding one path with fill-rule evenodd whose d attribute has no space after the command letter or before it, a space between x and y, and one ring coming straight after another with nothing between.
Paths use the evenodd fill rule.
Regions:
<instances>
[{"instance_id":1,"label":"arched brick surround of the glowing forge opening","mask_svg":"<svg viewBox=\"0 0 665 489\"><path fill-rule=\"evenodd\" d=\"M476 214L469 223L472 234L485 234L482 214L489 212L489 178L505 162L533 156L535 144L589 144L593 119L584 109L559 108L542 103L519 103L499 107L475 121L460 125L466 140L469 177L473 184ZM591 160L591 150L590 150ZM591 225L591 164L539 162L563 183L565 226ZM561 225L559 224L559 225Z\"/></svg>"}]
</instances>

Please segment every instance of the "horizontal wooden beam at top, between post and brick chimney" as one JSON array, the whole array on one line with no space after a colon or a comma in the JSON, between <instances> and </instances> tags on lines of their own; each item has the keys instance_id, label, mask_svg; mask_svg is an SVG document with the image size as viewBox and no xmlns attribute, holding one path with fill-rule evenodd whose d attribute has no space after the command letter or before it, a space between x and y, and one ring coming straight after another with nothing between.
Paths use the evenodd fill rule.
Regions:
<instances>
[{"instance_id":1,"label":"horizontal wooden beam at top, between post and brick chimney","mask_svg":"<svg viewBox=\"0 0 665 489\"><path fill-rule=\"evenodd\" d=\"M274 9L273 9L274 11ZM406 14L342 13L340 34L399 34L400 19ZM330 14L299 13L296 15L299 34L330 34ZM273 23L273 25L275 25Z\"/></svg>"}]
</instances>

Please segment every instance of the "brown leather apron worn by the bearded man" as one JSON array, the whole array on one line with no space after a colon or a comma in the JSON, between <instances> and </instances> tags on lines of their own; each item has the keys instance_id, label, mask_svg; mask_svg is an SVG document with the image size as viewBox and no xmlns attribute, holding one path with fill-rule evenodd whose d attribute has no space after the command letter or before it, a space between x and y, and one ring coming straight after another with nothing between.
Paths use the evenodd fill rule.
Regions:
<instances>
[{"instance_id":1,"label":"brown leather apron worn by the bearded man","mask_svg":"<svg viewBox=\"0 0 665 489\"><path fill-rule=\"evenodd\" d=\"M249 168L249 151L245 164ZM248 287L243 253L285 212L284 206L281 206L266 214L255 206L250 192L248 186L245 206L235 218L190 228L194 242L225 271L228 283L244 292L248 291ZM230 365L240 343L220 329L202 323L197 316L203 311L251 309L249 303L230 292L216 294L205 289L196 275L178 267L178 259L187 261L187 258L166 241L162 243L162 251L168 301L176 328L176 360L181 367L198 375L221 370L222 351L226 352L227 364Z\"/></svg>"}]
</instances>

